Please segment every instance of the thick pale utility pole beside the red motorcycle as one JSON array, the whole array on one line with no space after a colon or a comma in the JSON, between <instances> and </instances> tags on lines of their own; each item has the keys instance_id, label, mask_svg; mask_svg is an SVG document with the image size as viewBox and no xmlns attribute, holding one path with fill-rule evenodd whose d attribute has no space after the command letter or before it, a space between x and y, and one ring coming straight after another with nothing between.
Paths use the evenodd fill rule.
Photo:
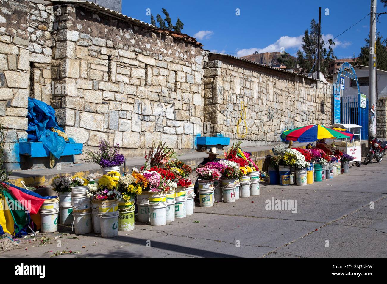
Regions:
<instances>
[{"instance_id":1,"label":"thick pale utility pole beside the red motorcycle","mask_svg":"<svg viewBox=\"0 0 387 284\"><path fill-rule=\"evenodd\" d=\"M371 0L368 74L368 141L376 138L376 0Z\"/></svg>"}]
</instances>

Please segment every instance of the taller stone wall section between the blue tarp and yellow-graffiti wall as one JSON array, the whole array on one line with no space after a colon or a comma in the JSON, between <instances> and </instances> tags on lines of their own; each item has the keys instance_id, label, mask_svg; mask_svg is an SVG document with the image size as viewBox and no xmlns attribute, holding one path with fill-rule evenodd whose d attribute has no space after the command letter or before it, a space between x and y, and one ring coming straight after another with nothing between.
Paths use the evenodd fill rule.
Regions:
<instances>
[{"instance_id":1,"label":"taller stone wall section between the blue tarp and yellow-graffiti wall","mask_svg":"<svg viewBox=\"0 0 387 284\"><path fill-rule=\"evenodd\" d=\"M51 105L68 136L85 147L119 143L127 157L159 139L193 150L204 105L200 46L86 7L56 9L51 75L68 88Z\"/></svg>"}]
</instances>

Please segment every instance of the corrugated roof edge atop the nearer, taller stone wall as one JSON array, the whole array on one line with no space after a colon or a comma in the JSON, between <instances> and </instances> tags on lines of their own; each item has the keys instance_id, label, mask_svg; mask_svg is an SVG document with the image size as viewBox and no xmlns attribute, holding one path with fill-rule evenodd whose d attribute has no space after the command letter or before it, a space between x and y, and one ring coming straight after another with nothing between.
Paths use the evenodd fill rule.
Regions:
<instances>
[{"instance_id":1,"label":"corrugated roof edge atop the nearer, taller stone wall","mask_svg":"<svg viewBox=\"0 0 387 284\"><path fill-rule=\"evenodd\" d=\"M188 43L194 44L196 46L203 46L203 44L197 42L195 37L188 36L187 34L182 34L182 33L173 32L173 31L169 31L169 30L159 29L156 26L153 26L153 25L148 24L146 22L142 22L140 20L134 19L134 18L129 17L127 15L123 15L120 12L117 12L117 11L110 10L108 8L99 6L97 3L94 3L94 2L90 2L90 1L86 1L86 0L49 0L49 1L52 2L53 4L67 3L67 4L84 5L84 6L88 7L88 8L90 8L90 9L95 9L95 10L98 10L100 12L103 12L103 13L110 14L110 15L116 16L118 18L121 18L122 20L134 23L137 26L141 26L141 27L145 27L147 29L151 29L154 32L159 32L160 34L168 34L171 37L174 37L176 39L181 39L183 41L186 41Z\"/></svg>"}]
</instances>

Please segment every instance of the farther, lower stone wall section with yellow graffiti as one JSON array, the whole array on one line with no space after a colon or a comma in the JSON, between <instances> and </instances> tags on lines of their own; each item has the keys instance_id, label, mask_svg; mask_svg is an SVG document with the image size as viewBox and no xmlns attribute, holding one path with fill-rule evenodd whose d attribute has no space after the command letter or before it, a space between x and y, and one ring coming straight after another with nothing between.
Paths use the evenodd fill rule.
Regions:
<instances>
[{"instance_id":1,"label":"farther, lower stone wall section with yellow graffiti","mask_svg":"<svg viewBox=\"0 0 387 284\"><path fill-rule=\"evenodd\" d=\"M265 145L286 129L332 122L327 84L214 53L204 68L205 135Z\"/></svg>"}]
</instances>

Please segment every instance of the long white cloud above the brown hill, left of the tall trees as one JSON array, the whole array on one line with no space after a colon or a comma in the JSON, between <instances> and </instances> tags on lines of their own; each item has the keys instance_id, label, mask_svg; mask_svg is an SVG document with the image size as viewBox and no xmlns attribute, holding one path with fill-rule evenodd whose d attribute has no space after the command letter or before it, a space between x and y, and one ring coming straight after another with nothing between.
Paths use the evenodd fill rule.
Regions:
<instances>
[{"instance_id":1,"label":"long white cloud above the brown hill, left of the tall trees","mask_svg":"<svg viewBox=\"0 0 387 284\"><path fill-rule=\"evenodd\" d=\"M245 56L249 54L253 54L255 51L258 53L264 52L281 52L283 50L286 51L288 48L300 48L302 44L302 36L281 36L275 43L269 44L264 48L244 48L237 51L237 56ZM281 49L282 48L282 49Z\"/></svg>"}]
</instances>

